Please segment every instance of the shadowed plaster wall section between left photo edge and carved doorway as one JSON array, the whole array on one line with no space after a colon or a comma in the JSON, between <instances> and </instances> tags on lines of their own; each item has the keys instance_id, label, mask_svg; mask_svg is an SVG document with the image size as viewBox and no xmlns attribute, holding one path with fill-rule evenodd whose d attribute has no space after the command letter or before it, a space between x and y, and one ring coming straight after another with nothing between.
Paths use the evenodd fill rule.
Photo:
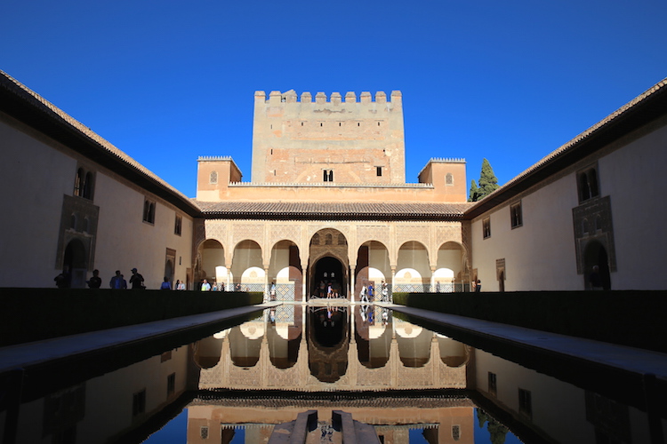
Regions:
<instances>
[{"instance_id":1,"label":"shadowed plaster wall section between left photo edge and carved doorway","mask_svg":"<svg viewBox=\"0 0 667 444\"><path fill-rule=\"evenodd\" d=\"M0 286L54 287L62 195L72 195L76 160L0 115ZM64 148L63 148L64 149Z\"/></svg>"}]
</instances>

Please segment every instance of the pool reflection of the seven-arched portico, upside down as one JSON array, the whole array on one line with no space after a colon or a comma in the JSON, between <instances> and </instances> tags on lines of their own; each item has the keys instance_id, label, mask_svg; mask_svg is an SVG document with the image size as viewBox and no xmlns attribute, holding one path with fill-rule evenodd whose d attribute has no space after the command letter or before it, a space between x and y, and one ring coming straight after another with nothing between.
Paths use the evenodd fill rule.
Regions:
<instances>
[{"instance_id":1,"label":"pool reflection of the seven-arched portico, upside down","mask_svg":"<svg viewBox=\"0 0 667 444\"><path fill-rule=\"evenodd\" d=\"M357 306L351 316L350 310L282 305L221 332L214 350L199 345L210 338L199 341L199 387L297 392L466 387L470 347L394 320L381 307Z\"/></svg>"}]
</instances>

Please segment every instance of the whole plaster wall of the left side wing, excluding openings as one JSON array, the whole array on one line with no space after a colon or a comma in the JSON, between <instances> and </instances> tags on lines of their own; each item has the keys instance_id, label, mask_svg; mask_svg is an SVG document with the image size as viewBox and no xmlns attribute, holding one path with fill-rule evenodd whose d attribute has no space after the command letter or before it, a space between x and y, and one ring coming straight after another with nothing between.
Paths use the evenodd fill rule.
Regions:
<instances>
[{"instance_id":1,"label":"whole plaster wall of the left side wing, excluding openings","mask_svg":"<svg viewBox=\"0 0 667 444\"><path fill-rule=\"evenodd\" d=\"M73 195L79 155L17 123L0 121L5 194L0 238L0 285L55 287L56 253L63 194ZM100 208L93 268L102 288L121 270L129 280L133 267L149 289L158 289L165 274L165 252L176 250L176 279L185 280L191 261L192 218L182 216L181 236L173 233L176 211L123 178L83 159L96 172L93 201ZM157 202L154 225L142 222L144 197ZM92 273L88 273L90 277Z\"/></svg>"}]
</instances>

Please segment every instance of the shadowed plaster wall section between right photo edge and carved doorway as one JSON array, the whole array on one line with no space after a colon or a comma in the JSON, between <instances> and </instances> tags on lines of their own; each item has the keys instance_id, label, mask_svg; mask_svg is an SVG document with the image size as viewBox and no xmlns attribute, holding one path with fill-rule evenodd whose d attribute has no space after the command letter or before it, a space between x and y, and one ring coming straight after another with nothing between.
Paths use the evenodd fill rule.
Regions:
<instances>
[{"instance_id":1,"label":"shadowed plaster wall section between right photo edge and carved doorway","mask_svg":"<svg viewBox=\"0 0 667 444\"><path fill-rule=\"evenodd\" d=\"M612 289L665 289L667 126L599 160L600 195L611 196L617 271Z\"/></svg>"}]
</instances>

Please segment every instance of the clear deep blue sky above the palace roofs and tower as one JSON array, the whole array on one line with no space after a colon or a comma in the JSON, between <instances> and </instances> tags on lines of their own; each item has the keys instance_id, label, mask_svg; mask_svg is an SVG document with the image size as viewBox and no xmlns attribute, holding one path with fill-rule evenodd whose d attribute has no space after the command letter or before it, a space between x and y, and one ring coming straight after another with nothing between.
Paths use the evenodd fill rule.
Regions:
<instances>
[{"instance_id":1,"label":"clear deep blue sky above the palace roofs and tower","mask_svg":"<svg viewBox=\"0 0 667 444\"><path fill-rule=\"evenodd\" d=\"M513 178L667 76L667 2L4 0L0 69L184 194L250 180L254 91L403 92L431 157Z\"/></svg>"}]
</instances>

